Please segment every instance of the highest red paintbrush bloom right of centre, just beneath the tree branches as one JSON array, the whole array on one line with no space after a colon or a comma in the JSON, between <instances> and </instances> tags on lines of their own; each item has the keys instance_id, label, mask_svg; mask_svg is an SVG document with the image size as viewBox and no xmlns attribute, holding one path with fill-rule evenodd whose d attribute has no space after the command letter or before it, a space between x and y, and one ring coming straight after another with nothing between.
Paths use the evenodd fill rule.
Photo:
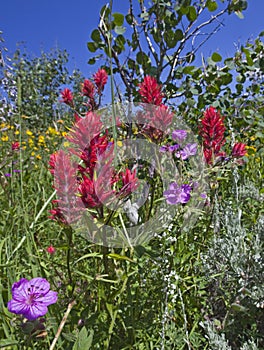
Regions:
<instances>
[{"instance_id":1,"label":"highest red paintbrush bloom right of centre, just beneath the tree branches","mask_svg":"<svg viewBox=\"0 0 264 350\"><path fill-rule=\"evenodd\" d=\"M139 84L139 94L142 102L160 106L162 104L163 95L161 86L154 77L147 75L143 82Z\"/></svg>"}]
</instances>

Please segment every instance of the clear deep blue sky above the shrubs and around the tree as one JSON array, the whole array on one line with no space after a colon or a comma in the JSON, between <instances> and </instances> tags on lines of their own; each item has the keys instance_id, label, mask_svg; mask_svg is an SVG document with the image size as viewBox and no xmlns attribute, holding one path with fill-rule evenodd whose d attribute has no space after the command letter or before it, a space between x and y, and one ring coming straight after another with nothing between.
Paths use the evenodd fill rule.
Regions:
<instances>
[{"instance_id":1,"label":"clear deep blue sky above the shrubs and around the tree","mask_svg":"<svg viewBox=\"0 0 264 350\"><path fill-rule=\"evenodd\" d=\"M220 0L217 0L220 1ZM90 76L94 67L87 49L90 33L97 26L99 11L106 0L2 0L0 30L10 52L17 42L25 42L27 51L38 55L58 46L70 54L72 65ZM264 0L248 0L244 19L228 16L222 30L202 49L205 57L218 51L233 55L236 43L255 38L264 30ZM114 0L114 8L126 13L128 0Z\"/></svg>"}]
</instances>

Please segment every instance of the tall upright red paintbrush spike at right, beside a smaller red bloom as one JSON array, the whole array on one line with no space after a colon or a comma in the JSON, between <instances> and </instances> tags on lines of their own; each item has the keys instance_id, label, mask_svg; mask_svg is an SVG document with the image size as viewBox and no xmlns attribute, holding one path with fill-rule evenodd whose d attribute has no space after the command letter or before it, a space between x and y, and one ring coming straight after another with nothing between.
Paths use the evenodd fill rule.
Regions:
<instances>
[{"instance_id":1,"label":"tall upright red paintbrush spike at right, beside a smaller red bloom","mask_svg":"<svg viewBox=\"0 0 264 350\"><path fill-rule=\"evenodd\" d=\"M225 152L221 152L225 143L224 118L214 107L209 107L204 112L199 129L207 164L211 164L216 157L225 156Z\"/></svg>"}]
</instances>

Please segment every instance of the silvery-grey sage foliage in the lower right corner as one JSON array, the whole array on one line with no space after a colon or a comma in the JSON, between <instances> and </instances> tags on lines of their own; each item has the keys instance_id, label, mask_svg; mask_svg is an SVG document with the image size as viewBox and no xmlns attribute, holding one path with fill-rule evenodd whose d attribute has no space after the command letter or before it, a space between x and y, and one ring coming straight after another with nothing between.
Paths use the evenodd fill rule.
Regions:
<instances>
[{"instance_id":1,"label":"silvery-grey sage foliage in the lower right corner","mask_svg":"<svg viewBox=\"0 0 264 350\"><path fill-rule=\"evenodd\" d=\"M242 211L230 202L218 206L217 216L220 221L218 233L208 251L202 255L203 269L210 280L208 295L211 310L208 310L206 318L214 324L215 332L225 334L235 349L238 344L242 346L249 341L251 334L261 348L264 341L261 335L264 217L260 215L255 225L245 227ZM209 328L207 332L211 339ZM219 337L221 340L222 336ZM219 349L224 348L219 345ZM212 349L218 348L214 345Z\"/></svg>"}]
</instances>

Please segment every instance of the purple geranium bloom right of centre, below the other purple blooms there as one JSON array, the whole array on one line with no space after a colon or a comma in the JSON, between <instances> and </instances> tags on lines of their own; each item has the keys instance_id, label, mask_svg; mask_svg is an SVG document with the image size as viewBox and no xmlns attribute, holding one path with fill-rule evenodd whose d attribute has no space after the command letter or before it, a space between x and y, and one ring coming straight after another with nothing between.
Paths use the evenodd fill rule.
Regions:
<instances>
[{"instance_id":1,"label":"purple geranium bloom right of centre, below the other purple blooms there","mask_svg":"<svg viewBox=\"0 0 264 350\"><path fill-rule=\"evenodd\" d=\"M168 204L187 203L191 198L191 186L181 185L176 182L170 184L169 189L163 192Z\"/></svg>"}]
</instances>

